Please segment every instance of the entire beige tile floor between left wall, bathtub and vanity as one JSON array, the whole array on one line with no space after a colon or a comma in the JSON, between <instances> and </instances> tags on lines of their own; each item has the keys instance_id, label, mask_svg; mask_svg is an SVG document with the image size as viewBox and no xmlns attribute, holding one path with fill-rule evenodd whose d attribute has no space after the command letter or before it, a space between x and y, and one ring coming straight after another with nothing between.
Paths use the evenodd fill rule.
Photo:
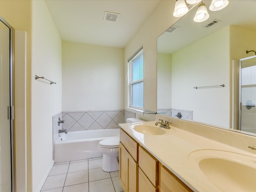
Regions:
<instances>
[{"instance_id":1,"label":"entire beige tile floor between left wall, bathtub and vanity","mask_svg":"<svg viewBox=\"0 0 256 192\"><path fill-rule=\"evenodd\" d=\"M101 167L102 157L56 163L41 192L122 192L119 171Z\"/></svg>"}]
</instances>

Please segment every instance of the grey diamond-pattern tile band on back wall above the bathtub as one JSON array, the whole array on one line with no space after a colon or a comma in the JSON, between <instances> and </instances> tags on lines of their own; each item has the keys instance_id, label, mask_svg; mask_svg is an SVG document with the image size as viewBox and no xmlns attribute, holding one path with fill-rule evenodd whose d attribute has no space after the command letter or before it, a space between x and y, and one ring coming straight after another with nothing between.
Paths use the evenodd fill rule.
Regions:
<instances>
[{"instance_id":1,"label":"grey diamond-pattern tile band on back wall above the bathtub","mask_svg":"<svg viewBox=\"0 0 256 192\"><path fill-rule=\"evenodd\" d=\"M124 110L62 112L62 128L68 131L119 128L124 123Z\"/></svg>"}]
</instances>

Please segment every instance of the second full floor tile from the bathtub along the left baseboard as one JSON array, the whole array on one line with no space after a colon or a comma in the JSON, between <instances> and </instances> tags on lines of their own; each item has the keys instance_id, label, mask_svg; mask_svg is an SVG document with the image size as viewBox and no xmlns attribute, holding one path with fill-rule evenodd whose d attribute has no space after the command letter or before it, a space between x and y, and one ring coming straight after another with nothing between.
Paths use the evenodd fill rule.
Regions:
<instances>
[{"instance_id":1,"label":"second full floor tile from the bathtub along the left baseboard","mask_svg":"<svg viewBox=\"0 0 256 192\"><path fill-rule=\"evenodd\" d=\"M66 174L48 176L42 190L60 188L64 186Z\"/></svg>"}]
</instances>

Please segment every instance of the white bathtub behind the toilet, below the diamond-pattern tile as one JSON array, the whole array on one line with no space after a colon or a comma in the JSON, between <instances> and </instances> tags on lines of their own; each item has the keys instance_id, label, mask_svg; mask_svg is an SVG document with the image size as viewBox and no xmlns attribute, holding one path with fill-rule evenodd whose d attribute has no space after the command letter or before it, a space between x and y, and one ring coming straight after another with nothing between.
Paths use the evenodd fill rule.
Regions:
<instances>
[{"instance_id":1,"label":"white bathtub behind the toilet, below the diamond-pattern tile","mask_svg":"<svg viewBox=\"0 0 256 192\"><path fill-rule=\"evenodd\" d=\"M102 156L98 143L119 136L120 128L61 133L54 143L54 162L66 162Z\"/></svg>"}]
</instances>

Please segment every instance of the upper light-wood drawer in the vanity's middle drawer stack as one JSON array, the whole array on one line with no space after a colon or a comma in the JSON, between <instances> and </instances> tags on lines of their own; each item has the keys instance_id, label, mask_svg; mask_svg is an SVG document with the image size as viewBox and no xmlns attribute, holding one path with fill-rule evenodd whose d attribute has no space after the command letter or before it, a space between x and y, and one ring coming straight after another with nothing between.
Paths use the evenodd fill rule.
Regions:
<instances>
[{"instance_id":1,"label":"upper light-wood drawer in the vanity's middle drawer stack","mask_svg":"<svg viewBox=\"0 0 256 192\"><path fill-rule=\"evenodd\" d=\"M158 185L158 160L139 146L139 167L154 186Z\"/></svg>"}]
</instances>

